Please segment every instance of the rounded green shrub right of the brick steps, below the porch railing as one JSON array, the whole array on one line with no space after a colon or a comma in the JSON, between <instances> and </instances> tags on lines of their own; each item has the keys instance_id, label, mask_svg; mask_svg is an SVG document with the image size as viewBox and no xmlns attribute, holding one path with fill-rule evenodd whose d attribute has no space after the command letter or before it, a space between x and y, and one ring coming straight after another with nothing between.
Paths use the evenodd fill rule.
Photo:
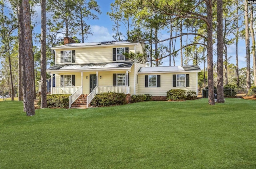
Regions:
<instances>
[{"instance_id":1,"label":"rounded green shrub right of the brick steps, below the porch railing","mask_svg":"<svg viewBox=\"0 0 256 169\"><path fill-rule=\"evenodd\" d=\"M92 99L91 105L93 106L110 106L110 105L123 105L126 103L126 94L106 92L96 94Z\"/></svg>"}]
</instances>

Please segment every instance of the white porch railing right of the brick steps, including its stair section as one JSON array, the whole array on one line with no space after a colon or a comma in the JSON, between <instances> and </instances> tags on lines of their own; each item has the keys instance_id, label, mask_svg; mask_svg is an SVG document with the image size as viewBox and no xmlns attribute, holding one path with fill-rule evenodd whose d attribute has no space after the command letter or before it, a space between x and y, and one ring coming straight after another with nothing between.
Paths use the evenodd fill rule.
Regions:
<instances>
[{"instance_id":1,"label":"white porch railing right of the brick steps, including its stair section","mask_svg":"<svg viewBox=\"0 0 256 169\"><path fill-rule=\"evenodd\" d=\"M90 94L87 95L87 104L86 107L94 98L94 96L98 93L105 93L105 92L116 92L116 93L130 93L130 86L120 86L120 85L110 85L110 86L96 86Z\"/></svg>"}]
</instances>

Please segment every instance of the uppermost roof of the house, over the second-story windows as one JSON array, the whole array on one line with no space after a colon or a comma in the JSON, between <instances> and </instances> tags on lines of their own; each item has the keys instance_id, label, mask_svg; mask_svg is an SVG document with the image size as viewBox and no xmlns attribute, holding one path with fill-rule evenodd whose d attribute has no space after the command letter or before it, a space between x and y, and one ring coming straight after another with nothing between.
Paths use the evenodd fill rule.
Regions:
<instances>
[{"instance_id":1,"label":"uppermost roof of the house, over the second-story windows","mask_svg":"<svg viewBox=\"0 0 256 169\"><path fill-rule=\"evenodd\" d=\"M60 46L54 46L52 49L57 48L77 48L77 47L88 47L88 46L102 46L102 45L122 45L122 44L138 44L131 43L128 41L108 41L108 42L87 42L87 43L74 43L74 44L65 44Z\"/></svg>"}]
</instances>

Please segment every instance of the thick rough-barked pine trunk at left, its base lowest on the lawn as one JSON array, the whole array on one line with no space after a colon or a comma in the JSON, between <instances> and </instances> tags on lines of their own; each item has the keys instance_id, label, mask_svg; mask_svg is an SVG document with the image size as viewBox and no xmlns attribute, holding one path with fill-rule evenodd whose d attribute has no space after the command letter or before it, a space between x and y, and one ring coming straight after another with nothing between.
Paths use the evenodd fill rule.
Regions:
<instances>
[{"instance_id":1,"label":"thick rough-barked pine trunk at left, its base lowest on the lawn","mask_svg":"<svg viewBox=\"0 0 256 169\"><path fill-rule=\"evenodd\" d=\"M26 76L23 77L24 81L26 81L26 88L24 92L26 92L26 97L24 98L24 104L26 105L26 114L27 116L31 116L35 114L34 109L34 87L33 87L33 72L34 72L34 62L33 62L33 50L32 50L32 34L31 34L31 25L30 25L30 11L29 11L29 2L28 0L22 1L23 5L23 20L24 20L24 46L25 46L25 54L24 54L24 67L26 71Z\"/></svg>"}]
</instances>

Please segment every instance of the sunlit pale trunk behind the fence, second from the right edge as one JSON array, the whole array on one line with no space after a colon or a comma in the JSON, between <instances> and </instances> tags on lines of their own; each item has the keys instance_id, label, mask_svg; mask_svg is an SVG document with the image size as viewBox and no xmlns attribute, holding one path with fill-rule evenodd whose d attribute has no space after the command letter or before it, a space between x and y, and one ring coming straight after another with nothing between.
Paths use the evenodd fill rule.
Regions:
<instances>
[{"instance_id":1,"label":"sunlit pale trunk behind the fence, second from the right edge","mask_svg":"<svg viewBox=\"0 0 256 169\"><path fill-rule=\"evenodd\" d=\"M251 87L250 78L250 39L249 39L249 21L248 21L248 0L244 0L245 17L245 48L246 48L246 89Z\"/></svg>"}]
</instances>

